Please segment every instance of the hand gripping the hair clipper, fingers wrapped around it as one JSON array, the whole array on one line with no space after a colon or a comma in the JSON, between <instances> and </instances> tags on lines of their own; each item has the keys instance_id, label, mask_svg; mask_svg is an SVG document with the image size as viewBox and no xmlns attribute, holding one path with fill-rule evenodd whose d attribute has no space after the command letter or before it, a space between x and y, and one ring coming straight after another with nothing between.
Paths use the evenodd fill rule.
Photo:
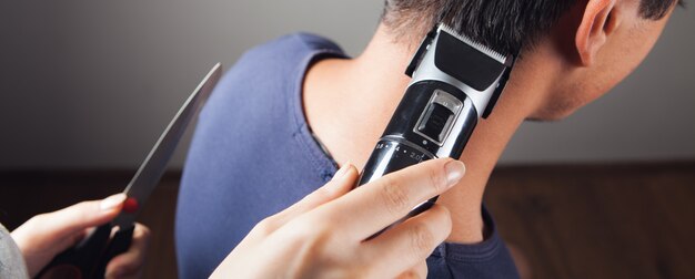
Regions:
<instances>
[{"instance_id":1,"label":"hand gripping the hair clipper, fingers wrapped around it","mask_svg":"<svg viewBox=\"0 0 695 279\"><path fill-rule=\"evenodd\" d=\"M451 232L443 206L365 239L451 188L464 172L459 161L429 161L348 193L357 170L344 166L316 192L259 223L212 277L424 278L425 259Z\"/></svg>"}]
</instances>

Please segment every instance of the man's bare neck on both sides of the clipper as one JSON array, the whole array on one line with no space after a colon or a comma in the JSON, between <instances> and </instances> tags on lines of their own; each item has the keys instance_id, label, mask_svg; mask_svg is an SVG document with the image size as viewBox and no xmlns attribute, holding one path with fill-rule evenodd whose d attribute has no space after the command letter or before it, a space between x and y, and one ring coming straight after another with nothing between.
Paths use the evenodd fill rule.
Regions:
<instances>
[{"instance_id":1,"label":"man's bare neck on both sides of the clipper","mask_svg":"<svg viewBox=\"0 0 695 279\"><path fill-rule=\"evenodd\" d=\"M364 166L410 82L403 72L416 46L416 42L394 41L382 25L360 56L349 61L326 61L310 70L304 86L310 125L331 152L338 149L338 145L353 145L346 148L348 152L338 149L334 153L339 163L350 159L360 168ZM533 96L540 94L528 92L540 92L541 89L533 83L523 83L526 79L520 75L521 71L513 72L492 115L479 122L461 157L467 166L464 179L440 199L452 213L452 241L482 239L481 200L487 178L518 125L537 105L540 99ZM323 92L323 95L315 92ZM340 105L326 105L331 103ZM343 131L345 134L340 135L335 130L320 128L321 117L326 115L333 116L333 125L341 125L335 122L342 121L345 126L362 133ZM340 143L339 138L345 136L351 141Z\"/></svg>"}]
</instances>

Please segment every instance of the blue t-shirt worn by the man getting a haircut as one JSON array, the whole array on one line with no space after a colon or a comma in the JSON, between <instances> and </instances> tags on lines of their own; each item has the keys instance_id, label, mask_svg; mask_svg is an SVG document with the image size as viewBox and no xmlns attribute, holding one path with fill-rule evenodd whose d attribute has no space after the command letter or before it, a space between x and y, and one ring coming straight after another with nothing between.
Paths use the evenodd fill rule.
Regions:
<instances>
[{"instance_id":1,"label":"blue t-shirt worn by the man getting a haircut","mask_svg":"<svg viewBox=\"0 0 695 279\"><path fill-rule=\"evenodd\" d=\"M345 58L333 42L293 34L246 52L201 112L183 172L175 242L181 278L207 278L263 218L331 179L333 159L314 140L302 105L306 69ZM400 71L400 70L399 70ZM515 278L492 219L479 245L442 244L430 278Z\"/></svg>"}]
</instances>

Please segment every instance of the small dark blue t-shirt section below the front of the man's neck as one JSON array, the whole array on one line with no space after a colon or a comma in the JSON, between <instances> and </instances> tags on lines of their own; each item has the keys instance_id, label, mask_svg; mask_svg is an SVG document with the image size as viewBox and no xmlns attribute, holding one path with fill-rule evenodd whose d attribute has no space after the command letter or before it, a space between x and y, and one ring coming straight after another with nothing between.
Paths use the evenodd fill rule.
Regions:
<instances>
[{"instance_id":1,"label":"small dark blue t-shirt section below the front of the man's neck","mask_svg":"<svg viewBox=\"0 0 695 279\"><path fill-rule=\"evenodd\" d=\"M483 206L487 239L475 245L444 242L427 258L427 278L518 278L514 260Z\"/></svg>"}]
</instances>

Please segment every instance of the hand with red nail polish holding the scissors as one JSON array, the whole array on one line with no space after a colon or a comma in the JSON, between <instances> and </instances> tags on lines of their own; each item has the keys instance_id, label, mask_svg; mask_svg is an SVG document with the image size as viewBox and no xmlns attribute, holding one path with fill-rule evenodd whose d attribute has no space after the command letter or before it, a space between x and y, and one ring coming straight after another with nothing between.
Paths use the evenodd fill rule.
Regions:
<instances>
[{"instance_id":1,"label":"hand with red nail polish holding the scissors","mask_svg":"<svg viewBox=\"0 0 695 279\"><path fill-rule=\"evenodd\" d=\"M112 220L125 195L83 202L68 208L37 215L12 231L12 238L27 261L30 277L37 276L58 254L77 245L90 228ZM150 231L137 224L130 249L107 266L107 278L138 278L142 270Z\"/></svg>"}]
</instances>

